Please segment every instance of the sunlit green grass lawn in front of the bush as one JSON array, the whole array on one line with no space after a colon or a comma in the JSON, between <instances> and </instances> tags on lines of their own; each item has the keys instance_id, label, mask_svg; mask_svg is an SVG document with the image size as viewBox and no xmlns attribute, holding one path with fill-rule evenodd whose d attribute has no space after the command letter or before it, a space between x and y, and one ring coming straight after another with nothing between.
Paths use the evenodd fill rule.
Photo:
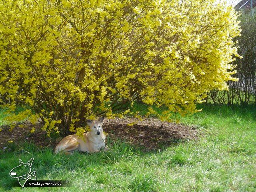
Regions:
<instances>
[{"instance_id":1,"label":"sunlit green grass lawn in front of the bush","mask_svg":"<svg viewBox=\"0 0 256 192\"><path fill-rule=\"evenodd\" d=\"M142 112L146 106L136 104ZM143 152L124 142L96 154L54 154L24 143L0 152L0 191L256 191L256 106L202 104L202 112L176 116L197 125L198 140ZM1 120L0 120L1 121ZM0 132L1 135L1 132ZM71 187L13 187L9 172L34 157L37 180L70 180Z\"/></svg>"}]
</instances>

